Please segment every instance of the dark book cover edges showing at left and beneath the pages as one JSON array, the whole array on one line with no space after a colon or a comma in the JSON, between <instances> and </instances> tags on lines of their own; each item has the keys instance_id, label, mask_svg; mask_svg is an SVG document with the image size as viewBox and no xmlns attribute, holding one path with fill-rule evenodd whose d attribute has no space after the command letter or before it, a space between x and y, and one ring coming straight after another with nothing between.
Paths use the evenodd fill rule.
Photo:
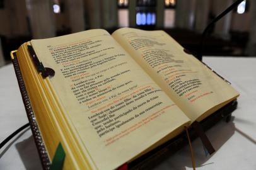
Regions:
<instances>
[{"instance_id":1,"label":"dark book cover edges showing at left and beneath the pages","mask_svg":"<svg viewBox=\"0 0 256 170\"><path fill-rule=\"evenodd\" d=\"M30 104L30 99L26 92L25 84L21 75L20 66L18 65L18 60L16 59L16 54L14 53L15 59L13 59L13 66L15 67L15 73L18 80L18 84L21 91L21 96L23 99L23 103L25 105L26 114L28 116L28 120L30 122L30 127L32 129L33 137L35 139L35 144L37 145L37 150L42 162L42 166L44 169L50 169L50 159L47 154L47 150L45 149L44 141L42 140L42 136L40 134L39 128L37 126L37 121L35 119L35 115L33 113L32 106ZM231 101L223 108L214 112L212 115L208 116L204 120L200 122L204 131L211 128L215 125L219 120L223 118L227 121L230 120L230 116L232 111L234 111L237 107L236 99ZM197 138L194 130L189 128L190 139L194 140ZM165 142L155 149L149 151L138 159L130 162L128 164L128 169L152 169L157 164L160 164L161 161L164 161L167 157L172 154L175 154L179 149L187 145L187 136L185 132L181 133L177 137Z\"/></svg>"}]
</instances>

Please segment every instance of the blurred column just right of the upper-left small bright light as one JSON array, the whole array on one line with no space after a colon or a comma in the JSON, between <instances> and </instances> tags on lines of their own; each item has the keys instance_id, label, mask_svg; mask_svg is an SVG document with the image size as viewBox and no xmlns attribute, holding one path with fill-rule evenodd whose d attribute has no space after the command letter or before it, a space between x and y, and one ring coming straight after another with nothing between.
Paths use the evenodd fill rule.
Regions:
<instances>
[{"instance_id":1,"label":"blurred column just right of the upper-left small bright light","mask_svg":"<svg viewBox=\"0 0 256 170\"><path fill-rule=\"evenodd\" d=\"M83 0L65 0L66 16L72 33L85 30Z\"/></svg>"}]
</instances>

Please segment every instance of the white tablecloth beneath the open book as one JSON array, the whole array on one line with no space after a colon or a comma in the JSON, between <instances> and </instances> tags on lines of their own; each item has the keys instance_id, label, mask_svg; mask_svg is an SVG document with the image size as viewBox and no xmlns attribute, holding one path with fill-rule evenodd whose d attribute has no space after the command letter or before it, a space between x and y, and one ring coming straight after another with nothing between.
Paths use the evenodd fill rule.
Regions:
<instances>
[{"instance_id":1,"label":"white tablecloth beneath the open book","mask_svg":"<svg viewBox=\"0 0 256 170\"><path fill-rule=\"evenodd\" d=\"M205 156L199 139L192 142L197 169L256 169L256 58L204 57L204 62L240 92L231 122L220 122L207 136L216 149ZM13 65L0 68L0 141L28 122ZM32 132L27 128L0 150L0 169L41 169ZM192 169L189 147L155 169Z\"/></svg>"}]
</instances>

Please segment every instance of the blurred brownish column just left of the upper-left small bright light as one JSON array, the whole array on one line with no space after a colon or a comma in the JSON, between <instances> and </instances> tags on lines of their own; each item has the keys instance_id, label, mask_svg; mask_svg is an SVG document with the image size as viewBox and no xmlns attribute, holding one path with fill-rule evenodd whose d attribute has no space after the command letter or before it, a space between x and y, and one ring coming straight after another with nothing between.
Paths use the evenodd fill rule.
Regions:
<instances>
[{"instance_id":1,"label":"blurred brownish column just left of the upper-left small bright light","mask_svg":"<svg viewBox=\"0 0 256 170\"><path fill-rule=\"evenodd\" d=\"M55 37L54 13L49 0L26 0L33 38Z\"/></svg>"}]
</instances>

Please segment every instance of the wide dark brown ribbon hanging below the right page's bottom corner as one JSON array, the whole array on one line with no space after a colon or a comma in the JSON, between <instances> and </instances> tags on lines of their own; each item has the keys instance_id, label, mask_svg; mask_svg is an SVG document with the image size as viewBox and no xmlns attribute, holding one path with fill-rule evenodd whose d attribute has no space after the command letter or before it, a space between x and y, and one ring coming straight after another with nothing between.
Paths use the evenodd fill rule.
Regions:
<instances>
[{"instance_id":1,"label":"wide dark brown ribbon hanging below the right page's bottom corner","mask_svg":"<svg viewBox=\"0 0 256 170\"><path fill-rule=\"evenodd\" d=\"M206 133L204 133L201 124L195 121L194 123L192 123L191 126L192 128L194 128L195 133L197 133L197 135L200 137L202 144L204 145L204 147L206 147L209 154L211 155L213 152L215 152L215 149L212 147L212 144L210 140L207 138Z\"/></svg>"}]
</instances>

